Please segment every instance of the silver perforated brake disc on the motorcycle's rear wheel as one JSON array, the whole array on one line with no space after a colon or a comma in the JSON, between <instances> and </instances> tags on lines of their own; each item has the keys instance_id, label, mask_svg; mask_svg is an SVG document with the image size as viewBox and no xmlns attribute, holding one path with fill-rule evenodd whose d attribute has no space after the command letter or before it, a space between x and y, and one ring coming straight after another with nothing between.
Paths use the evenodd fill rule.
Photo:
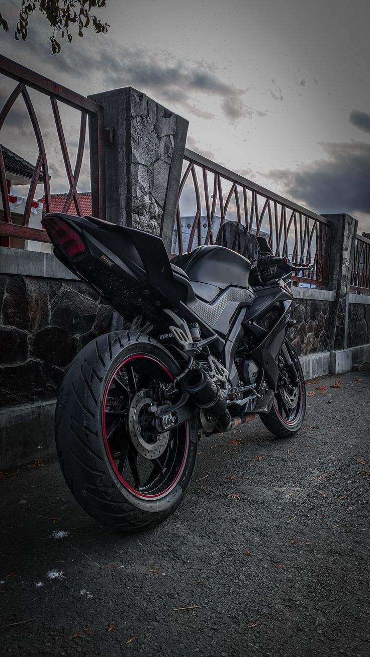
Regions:
<instances>
[{"instance_id":1,"label":"silver perforated brake disc on the motorcycle's rear wheel","mask_svg":"<svg viewBox=\"0 0 370 657\"><path fill-rule=\"evenodd\" d=\"M166 431L163 434L155 436L154 432L149 432L143 429L141 425L142 413L147 411L150 406L154 404L150 396L150 390L141 390L138 392L129 407L128 412L128 430L129 436L137 452L145 459L158 459L164 453L170 440L170 432Z\"/></svg>"}]
</instances>

